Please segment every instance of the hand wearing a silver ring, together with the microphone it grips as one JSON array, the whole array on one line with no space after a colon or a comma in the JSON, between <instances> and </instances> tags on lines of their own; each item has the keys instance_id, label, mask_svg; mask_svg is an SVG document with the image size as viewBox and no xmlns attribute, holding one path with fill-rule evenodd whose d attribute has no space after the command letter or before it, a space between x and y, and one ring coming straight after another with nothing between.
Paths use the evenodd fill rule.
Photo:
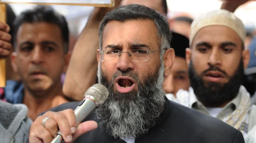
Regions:
<instances>
[{"instance_id":1,"label":"hand wearing a silver ring, together with the microphone it grips","mask_svg":"<svg viewBox=\"0 0 256 143\"><path fill-rule=\"evenodd\" d=\"M107 88L94 84L84 94L76 109L60 112L48 111L38 116L30 128L29 143L72 142L82 134L98 127L95 121L81 123L95 108L104 104L109 96Z\"/></svg>"}]
</instances>

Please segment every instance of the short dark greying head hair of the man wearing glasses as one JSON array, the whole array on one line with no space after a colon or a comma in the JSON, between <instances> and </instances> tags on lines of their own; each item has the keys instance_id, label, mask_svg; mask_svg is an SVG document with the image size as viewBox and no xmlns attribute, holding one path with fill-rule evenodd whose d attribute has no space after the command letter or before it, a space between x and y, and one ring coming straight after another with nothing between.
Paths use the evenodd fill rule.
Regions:
<instances>
[{"instance_id":1,"label":"short dark greying head hair of the man wearing glasses","mask_svg":"<svg viewBox=\"0 0 256 143\"><path fill-rule=\"evenodd\" d=\"M99 49L102 49L102 32L104 27L109 21L119 21L125 22L128 20L152 20L155 23L157 29L157 35L159 38L159 46L161 49L170 48L171 43L171 32L169 29L168 21L165 19L163 15L156 12L155 10L148 8L139 4L130 4L125 6L120 6L119 8L114 9L113 11L108 12L103 20L100 23L99 30ZM163 51L163 52L162 52ZM161 50L161 55L163 55L165 51Z\"/></svg>"}]
</instances>

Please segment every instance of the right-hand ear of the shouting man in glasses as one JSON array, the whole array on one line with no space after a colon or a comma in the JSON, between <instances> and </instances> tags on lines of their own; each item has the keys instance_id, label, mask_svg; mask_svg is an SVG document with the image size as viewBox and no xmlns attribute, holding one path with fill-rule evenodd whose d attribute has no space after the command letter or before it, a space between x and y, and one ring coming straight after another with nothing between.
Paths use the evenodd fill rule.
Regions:
<instances>
[{"instance_id":1,"label":"right-hand ear of the shouting man in glasses","mask_svg":"<svg viewBox=\"0 0 256 143\"><path fill-rule=\"evenodd\" d=\"M164 71L164 76L168 76L170 74L170 71L172 69L173 63L175 59L175 52L173 48L170 48L166 50L163 58L164 66L165 66L165 71Z\"/></svg>"}]
</instances>

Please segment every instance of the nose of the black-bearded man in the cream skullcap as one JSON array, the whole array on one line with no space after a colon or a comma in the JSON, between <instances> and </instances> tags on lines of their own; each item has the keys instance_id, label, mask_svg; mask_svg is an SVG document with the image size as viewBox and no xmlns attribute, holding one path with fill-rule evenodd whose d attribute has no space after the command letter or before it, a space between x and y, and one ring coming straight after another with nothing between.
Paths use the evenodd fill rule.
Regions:
<instances>
[{"instance_id":1,"label":"nose of the black-bearded man in the cream skullcap","mask_svg":"<svg viewBox=\"0 0 256 143\"><path fill-rule=\"evenodd\" d=\"M211 55L208 59L208 65L220 66L221 65L221 53L218 48L213 48Z\"/></svg>"}]
</instances>

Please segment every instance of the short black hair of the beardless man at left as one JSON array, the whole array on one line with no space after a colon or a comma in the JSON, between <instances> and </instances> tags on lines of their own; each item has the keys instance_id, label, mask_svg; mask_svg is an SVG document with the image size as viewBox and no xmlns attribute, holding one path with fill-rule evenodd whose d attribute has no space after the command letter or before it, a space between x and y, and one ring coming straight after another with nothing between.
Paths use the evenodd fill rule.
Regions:
<instances>
[{"instance_id":1,"label":"short black hair of the beardless man at left","mask_svg":"<svg viewBox=\"0 0 256 143\"><path fill-rule=\"evenodd\" d=\"M55 12L52 7L38 5L33 10L26 10L22 12L16 19L13 24L13 41L14 48L16 48L16 35L19 27L23 23L35 23L35 22L47 22L56 24L61 28L62 39L64 43L64 53L68 52L68 43L69 43L69 29L65 17L57 12Z\"/></svg>"}]
</instances>

